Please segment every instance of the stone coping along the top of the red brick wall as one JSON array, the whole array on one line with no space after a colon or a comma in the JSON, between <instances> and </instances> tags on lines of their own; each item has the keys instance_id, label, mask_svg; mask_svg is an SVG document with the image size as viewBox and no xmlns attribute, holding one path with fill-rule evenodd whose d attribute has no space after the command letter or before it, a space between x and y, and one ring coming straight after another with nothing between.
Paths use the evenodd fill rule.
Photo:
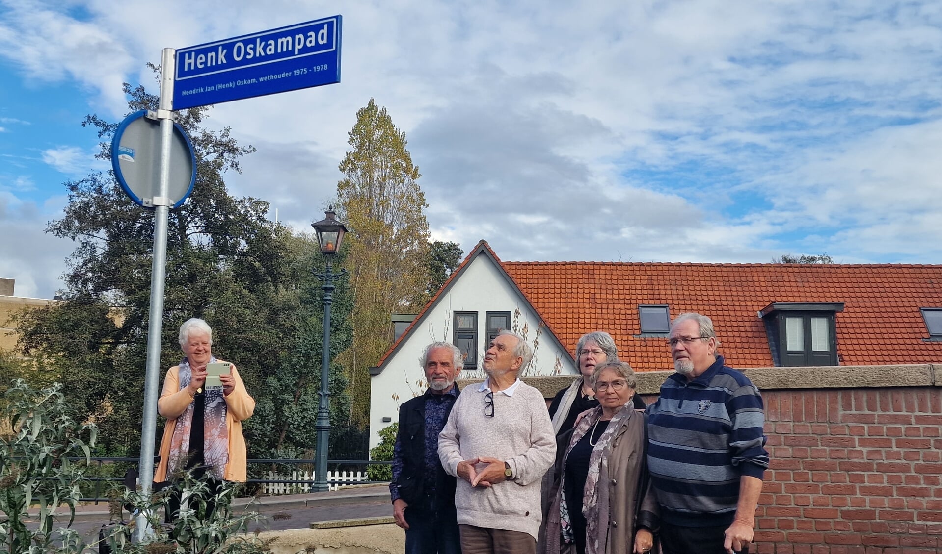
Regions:
<instances>
[{"instance_id":1,"label":"stone coping along the top of the red brick wall","mask_svg":"<svg viewBox=\"0 0 942 554\"><path fill-rule=\"evenodd\" d=\"M747 368L740 370L760 390L809 388L891 388L942 387L942 364L911 364L886 366L823 366L806 368ZM664 379L673 372L638 372L638 393L658 394ZM576 375L524 377L524 383L553 398L562 388L569 387ZM479 383L459 379L458 386Z\"/></svg>"}]
</instances>

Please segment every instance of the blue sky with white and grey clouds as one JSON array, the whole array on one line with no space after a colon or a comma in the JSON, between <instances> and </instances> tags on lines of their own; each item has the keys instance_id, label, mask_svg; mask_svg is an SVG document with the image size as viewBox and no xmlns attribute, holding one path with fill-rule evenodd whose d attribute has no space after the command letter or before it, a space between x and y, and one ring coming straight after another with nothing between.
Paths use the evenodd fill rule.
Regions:
<instances>
[{"instance_id":1,"label":"blue sky with white and grey clouds","mask_svg":"<svg viewBox=\"0 0 942 554\"><path fill-rule=\"evenodd\" d=\"M342 81L217 105L236 195L323 216L369 99L406 133L432 234L504 260L936 263L942 3L0 0L0 277L49 297L43 232L89 113L184 48L343 15ZM166 27L166 28L162 28ZM274 214L272 214L272 217Z\"/></svg>"}]
</instances>

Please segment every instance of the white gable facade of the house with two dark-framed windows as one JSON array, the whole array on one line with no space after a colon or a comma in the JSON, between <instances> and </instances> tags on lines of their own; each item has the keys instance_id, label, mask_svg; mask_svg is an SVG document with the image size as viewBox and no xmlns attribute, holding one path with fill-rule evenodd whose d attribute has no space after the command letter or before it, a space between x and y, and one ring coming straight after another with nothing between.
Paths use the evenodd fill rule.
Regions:
<instances>
[{"instance_id":1,"label":"white gable facade of the house with two dark-framed windows","mask_svg":"<svg viewBox=\"0 0 942 554\"><path fill-rule=\"evenodd\" d=\"M521 376L576 374L572 355L545 327L482 241L370 370L370 448L379 444L378 432L383 427L398 421L399 405L425 392L420 357L426 345L439 340L455 344L465 354L459 378L483 380L484 352L502 329L522 335L533 350Z\"/></svg>"}]
</instances>

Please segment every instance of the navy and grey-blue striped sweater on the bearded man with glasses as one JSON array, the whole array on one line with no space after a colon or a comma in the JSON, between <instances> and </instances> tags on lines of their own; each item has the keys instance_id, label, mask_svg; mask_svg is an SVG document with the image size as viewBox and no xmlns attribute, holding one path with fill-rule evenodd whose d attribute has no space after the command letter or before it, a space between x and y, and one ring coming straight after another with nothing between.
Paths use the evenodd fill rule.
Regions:
<instances>
[{"instance_id":1,"label":"navy and grey-blue striped sweater on the bearded man with glasses","mask_svg":"<svg viewBox=\"0 0 942 554\"><path fill-rule=\"evenodd\" d=\"M674 373L648 406L648 469L661 517L691 527L728 525L739 477L762 479L769 467L758 388L723 365L723 356L692 381Z\"/></svg>"}]
</instances>

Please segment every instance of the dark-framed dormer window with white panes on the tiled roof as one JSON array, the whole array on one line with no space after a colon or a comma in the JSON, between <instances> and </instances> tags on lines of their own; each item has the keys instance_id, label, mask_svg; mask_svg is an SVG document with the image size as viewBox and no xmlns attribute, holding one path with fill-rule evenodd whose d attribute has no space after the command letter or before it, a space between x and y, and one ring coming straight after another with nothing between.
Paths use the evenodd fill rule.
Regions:
<instances>
[{"instance_id":1,"label":"dark-framed dormer window with white panes on the tiled roof","mask_svg":"<svg viewBox=\"0 0 942 554\"><path fill-rule=\"evenodd\" d=\"M772 302L758 313L780 367L836 366L836 313L843 302Z\"/></svg>"}]
</instances>

